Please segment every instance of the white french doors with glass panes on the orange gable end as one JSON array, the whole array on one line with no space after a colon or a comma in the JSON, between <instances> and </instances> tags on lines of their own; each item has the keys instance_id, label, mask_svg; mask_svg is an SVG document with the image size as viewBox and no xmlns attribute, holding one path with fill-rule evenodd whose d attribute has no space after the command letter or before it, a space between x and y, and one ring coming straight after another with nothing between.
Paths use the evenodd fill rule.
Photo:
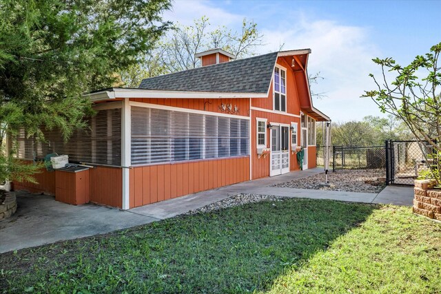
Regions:
<instances>
[{"instance_id":1,"label":"white french doors with glass panes on the orange gable end","mask_svg":"<svg viewBox=\"0 0 441 294\"><path fill-rule=\"evenodd\" d=\"M271 128L271 154L269 176L289 172L289 126L274 125Z\"/></svg>"}]
</instances>

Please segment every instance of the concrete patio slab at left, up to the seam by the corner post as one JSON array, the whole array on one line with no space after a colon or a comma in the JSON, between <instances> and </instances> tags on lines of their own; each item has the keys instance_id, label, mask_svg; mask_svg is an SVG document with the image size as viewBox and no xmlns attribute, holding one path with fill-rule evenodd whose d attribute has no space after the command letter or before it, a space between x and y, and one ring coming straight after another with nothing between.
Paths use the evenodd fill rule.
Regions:
<instances>
[{"instance_id":1,"label":"concrete patio slab at left, up to the seam by the corner post","mask_svg":"<svg viewBox=\"0 0 441 294\"><path fill-rule=\"evenodd\" d=\"M17 192L17 212L0 222L0 253L147 224L155 218L53 196Z\"/></svg>"}]
</instances>

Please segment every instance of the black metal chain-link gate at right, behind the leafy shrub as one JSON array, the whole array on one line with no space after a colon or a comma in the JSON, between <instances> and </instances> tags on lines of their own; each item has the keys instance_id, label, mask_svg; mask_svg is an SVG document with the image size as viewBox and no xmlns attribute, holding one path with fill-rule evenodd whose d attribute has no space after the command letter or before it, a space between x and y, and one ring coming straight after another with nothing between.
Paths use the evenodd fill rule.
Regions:
<instances>
[{"instance_id":1,"label":"black metal chain-link gate at right, behind the leafy shrub","mask_svg":"<svg viewBox=\"0 0 441 294\"><path fill-rule=\"evenodd\" d=\"M429 169L433 162L426 162L425 158L433 153L433 148L427 142L422 144L424 148L416 140L385 141L387 185L413 185L418 173Z\"/></svg>"}]
</instances>

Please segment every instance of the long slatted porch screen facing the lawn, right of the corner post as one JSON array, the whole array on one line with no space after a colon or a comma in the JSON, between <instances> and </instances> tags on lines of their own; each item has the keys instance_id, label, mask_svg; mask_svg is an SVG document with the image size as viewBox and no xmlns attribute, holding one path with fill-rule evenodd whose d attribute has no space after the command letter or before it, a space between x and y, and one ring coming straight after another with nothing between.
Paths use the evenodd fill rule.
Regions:
<instances>
[{"instance_id":1,"label":"long slatted porch screen facing the lawn, right of the corner post","mask_svg":"<svg viewBox=\"0 0 441 294\"><path fill-rule=\"evenodd\" d=\"M132 107L132 165L249 155L249 120Z\"/></svg>"}]
</instances>

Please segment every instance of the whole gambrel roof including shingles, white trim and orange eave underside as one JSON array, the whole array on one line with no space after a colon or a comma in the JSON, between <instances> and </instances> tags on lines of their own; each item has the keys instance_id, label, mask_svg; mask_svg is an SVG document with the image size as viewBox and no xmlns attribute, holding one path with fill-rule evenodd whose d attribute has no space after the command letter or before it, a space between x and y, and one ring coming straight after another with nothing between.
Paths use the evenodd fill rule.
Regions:
<instances>
[{"instance_id":1,"label":"whole gambrel roof including shingles, white trim and orange eave underside","mask_svg":"<svg viewBox=\"0 0 441 294\"><path fill-rule=\"evenodd\" d=\"M135 89L112 87L85 96L96 102L123 98L268 98L280 58L294 71L302 111L316 120L330 120L312 103L307 76L309 53L309 49L272 52L145 78Z\"/></svg>"}]
</instances>

